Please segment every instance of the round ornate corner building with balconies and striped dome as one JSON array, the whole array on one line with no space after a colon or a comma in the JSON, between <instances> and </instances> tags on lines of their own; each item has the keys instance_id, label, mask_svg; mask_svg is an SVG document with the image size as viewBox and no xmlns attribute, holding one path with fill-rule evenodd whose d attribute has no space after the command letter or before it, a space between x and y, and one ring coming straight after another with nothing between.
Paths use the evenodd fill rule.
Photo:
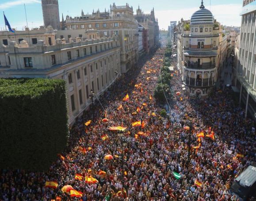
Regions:
<instances>
[{"instance_id":1,"label":"round ornate corner building with balconies and striped dome","mask_svg":"<svg viewBox=\"0 0 256 201\"><path fill-rule=\"evenodd\" d=\"M178 41L178 63L187 93L194 98L205 99L217 79L217 61L220 30L214 24L211 11L202 4L191 20L181 24Z\"/></svg>"}]
</instances>

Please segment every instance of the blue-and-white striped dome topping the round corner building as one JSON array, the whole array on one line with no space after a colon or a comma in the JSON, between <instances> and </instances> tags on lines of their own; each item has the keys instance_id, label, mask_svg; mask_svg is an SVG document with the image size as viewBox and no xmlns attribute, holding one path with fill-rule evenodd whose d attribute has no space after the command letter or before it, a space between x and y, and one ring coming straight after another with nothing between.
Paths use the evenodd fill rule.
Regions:
<instances>
[{"instance_id":1,"label":"blue-and-white striped dome topping the round corner building","mask_svg":"<svg viewBox=\"0 0 256 201\"><path fill-rule=\"evenodd\" d=\"M200 6L200 10L196 11L192 16L191 16L191 23L213 23L213 15L211 11L207 10L204 5L203 5L203 0L202 0L202 5Z\"/></svg>"}]
</instances>

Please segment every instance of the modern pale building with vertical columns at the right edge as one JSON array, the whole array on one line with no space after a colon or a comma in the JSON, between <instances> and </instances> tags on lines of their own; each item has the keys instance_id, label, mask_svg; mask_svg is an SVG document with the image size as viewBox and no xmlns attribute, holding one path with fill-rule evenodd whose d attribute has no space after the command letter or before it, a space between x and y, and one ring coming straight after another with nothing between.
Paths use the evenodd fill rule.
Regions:
<instances>
[{"instance_id":1,"label":"modern pale building with vertical columns at the right edge","mask_svg":"<svg viewBox=\"0 0 256 201\"><path fill-rule=\"evenodd\" d=\"M244 0L235 85L245 116L256 120L256 1Z\"/></svg>"}]
</instances>

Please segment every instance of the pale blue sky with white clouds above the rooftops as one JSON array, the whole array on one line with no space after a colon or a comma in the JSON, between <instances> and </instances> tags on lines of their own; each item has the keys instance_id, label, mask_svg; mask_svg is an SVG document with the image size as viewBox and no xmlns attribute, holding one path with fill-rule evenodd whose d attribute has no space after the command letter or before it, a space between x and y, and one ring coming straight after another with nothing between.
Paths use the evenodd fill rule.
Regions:
<instances>
[{"instance_id":1,"label":"pale blue sky with white clouds above the rooftops","mask_svg":"<svg viewBox=\"0 0 256 201\"><path fill-rule=\"evenodd\" d=\"M88 4L89 2L89 4ZM168 29L170 21L190 19L191 15L199 10L201 0L59 0L60 19L66 15L80 16L81 10L91 14L92 10L104 11L110 4L125 5L126 2L134 7L134 14L138 6L144 13L150 13L154 7L155 16L158 18L160 29ZM4 11L12 28L22 30L26 25L24 4L27 10L27 21L30 28L43 25L41 0L0 0L0 12ZM214 18L222 25L240 26L242 0L204 0L204 5L209 9ZM4 17L0 16L0 30L4 30Z\"/></svg>"}]
</instances>

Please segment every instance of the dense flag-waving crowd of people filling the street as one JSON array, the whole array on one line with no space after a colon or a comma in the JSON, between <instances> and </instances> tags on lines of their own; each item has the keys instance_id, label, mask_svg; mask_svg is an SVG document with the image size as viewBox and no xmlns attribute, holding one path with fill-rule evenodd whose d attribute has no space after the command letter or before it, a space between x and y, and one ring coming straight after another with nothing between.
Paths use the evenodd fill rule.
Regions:
<instances>
[{"instance_id":1,"label":"dense flag-waving crowd of people filling the street","mask_svg":"<svg viewBox=\"0 0 256 201\"><path fill-rule=\"evenodd\" d=\"M48 172L1 170L0 200L239 200L229 189L241 171L255 165L252 120L244 118L244 111L235 106L229 91L216 90L204 101L189 99L181 89L179 71L173 72L170 86L180 122L161 117L162 108L153 92L163 59L161 48L120 76L99 98L102 105L95 101L96 119L93 121L91 110L70 130L69 147ZM181 92L180 96L176 92ZM129 100L123 101L126 94ZM85 126L89 120L92 123ZM145 123L144 128L132 127L136 121ZM118 126L126 130L109 130ZM212 131L214 138L207 138ZM204 137L198 138L202 132ZM103 140L105 134L108 139ZM107 154L113 159L104 159ZM76 174L83 179L75 179ZM98 182L86 183L88 175ZM57 189L45 187L46 181L56 181ZM62 192L64 185L73 186L82 197Z\"/></svg>"}]
</instances>

